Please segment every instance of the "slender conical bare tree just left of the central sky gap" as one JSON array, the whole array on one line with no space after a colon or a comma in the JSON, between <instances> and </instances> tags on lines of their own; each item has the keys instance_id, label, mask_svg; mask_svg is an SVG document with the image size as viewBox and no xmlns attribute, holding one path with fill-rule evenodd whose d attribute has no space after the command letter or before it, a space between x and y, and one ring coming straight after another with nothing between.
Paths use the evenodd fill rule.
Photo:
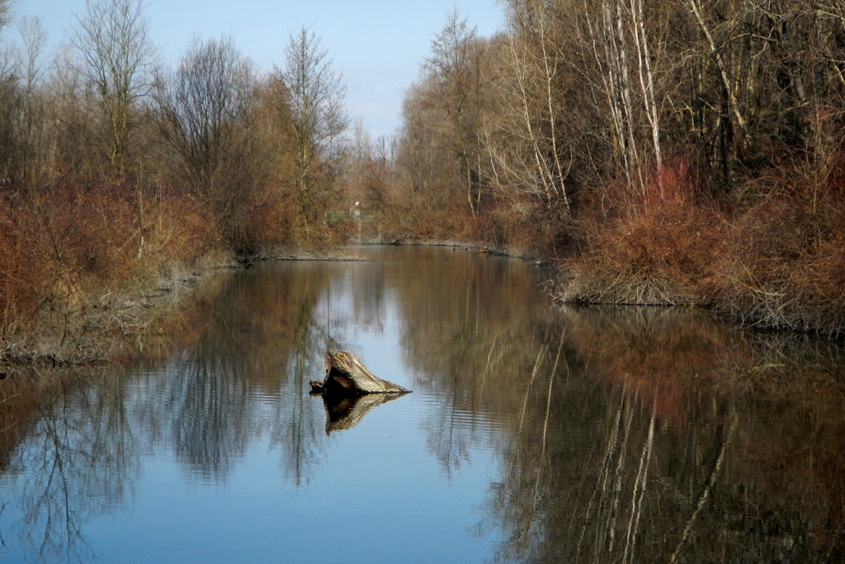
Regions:
<instances>
[{"instance_id":1,"label":"slender conical bare tree just left of the central sky gap","mask_svg":"<svg viewBox=\"0 0 845 564\"><path fill-rule=\"evenodd\" d=\"M290 35L285 67L276 67L275 74L289 95L287 116L296 144L297 198L308 230L319 190L318 176L325 175L337 161L341 135L349 122L344 106L346 86L319 37L305 27Z\"/></svg>"}]
</instances>

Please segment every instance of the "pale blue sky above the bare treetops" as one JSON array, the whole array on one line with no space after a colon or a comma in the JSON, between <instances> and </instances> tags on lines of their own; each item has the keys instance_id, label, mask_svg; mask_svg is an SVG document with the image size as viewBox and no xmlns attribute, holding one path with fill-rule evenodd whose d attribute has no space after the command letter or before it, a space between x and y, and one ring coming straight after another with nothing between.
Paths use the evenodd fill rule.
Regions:
<instances>
[{"instance_id":1,"label":"pale blue sky above the bare treetops","mask_svg":"<svg viewBox=\"0 0 845 564\"><path fill-rule=\"evenodd\" d=\"M231 34L237 46L262 70L283 61L288 33L312 26L346 79L346 104L362 117L373 139L395 132L401 96L419 72L433 35L446 15L458 8L492 35L502 25L496 0L146 0L152 41L165 62L175 62L194 35ZM50 45L66 39L74 14L85 0L18 0L15 16L38 16L50 33ZM14 30L5 32L7 37Z\"/></svg>"}]
</instances>

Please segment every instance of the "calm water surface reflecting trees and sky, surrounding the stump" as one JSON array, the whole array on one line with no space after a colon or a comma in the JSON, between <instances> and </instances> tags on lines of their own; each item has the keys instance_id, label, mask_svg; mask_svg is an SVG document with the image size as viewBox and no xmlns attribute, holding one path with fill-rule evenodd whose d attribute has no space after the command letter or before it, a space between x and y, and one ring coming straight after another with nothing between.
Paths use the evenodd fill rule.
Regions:
<instances>
[{"instance_id":1,"label":"calm water surface reflecting trees and sky, surrounding the stump","mask_svg":"<svg viewBox=\"0 0 845 564\"><path fill-rule=\"evenodd\" d=\"M26 409L0 381L0 561L845 561L837 344L354 252L221 273ZM327 348L413 393L324 404Z\"/></svg>"}]
</instances>

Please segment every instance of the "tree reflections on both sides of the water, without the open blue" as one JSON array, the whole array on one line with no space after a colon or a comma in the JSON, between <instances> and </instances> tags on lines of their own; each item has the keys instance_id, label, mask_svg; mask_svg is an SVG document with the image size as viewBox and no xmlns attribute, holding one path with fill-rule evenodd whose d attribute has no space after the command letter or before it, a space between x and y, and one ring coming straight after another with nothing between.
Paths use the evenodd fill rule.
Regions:
<instances>
[{"instance_id":1,"label":"tree reflections on both sides of the water, without the open blue","mask_svg":"<svg viewBox=\"0 0 845 564\"><path fill-rule=\"evenodd\" d=\"M14 534L32 553L87 556L83 525L132 496L153 447L225 480L265 435L307 483L325 444L308 380L346 328L384 329L395 297L413 388L443 408L428 411L428 447L447 472L480 443L499 456L499 560L842 560L837 346L688 311L553 311L523 263L407 251L390 273L227 274L146 343L145 370L27 400L39 417L13 428L30 439L0 457L21 472ZM280 268L297 275L280 284Z\"/></svg>"}]
</instances>

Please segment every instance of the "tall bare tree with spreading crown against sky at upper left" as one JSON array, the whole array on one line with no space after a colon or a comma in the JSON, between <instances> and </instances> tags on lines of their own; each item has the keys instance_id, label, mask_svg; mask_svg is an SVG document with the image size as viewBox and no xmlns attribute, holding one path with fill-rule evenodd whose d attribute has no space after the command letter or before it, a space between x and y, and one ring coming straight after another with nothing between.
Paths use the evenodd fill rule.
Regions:
<instances>
[{"instance_id":1,"label":"tall bare tree with spreading crown against sky at upper left","mask_svg":"<svg viewBox=\"0 0 845 564\"><path fill-rule=\"evenodd\" d=\"M118 175L123 175L133 106L150 93L155 47L143 0L86 0L77 14L70 41L82 57L82 73L99 100L106 132L103 147Z\"/></svg>"}]
</instances>

